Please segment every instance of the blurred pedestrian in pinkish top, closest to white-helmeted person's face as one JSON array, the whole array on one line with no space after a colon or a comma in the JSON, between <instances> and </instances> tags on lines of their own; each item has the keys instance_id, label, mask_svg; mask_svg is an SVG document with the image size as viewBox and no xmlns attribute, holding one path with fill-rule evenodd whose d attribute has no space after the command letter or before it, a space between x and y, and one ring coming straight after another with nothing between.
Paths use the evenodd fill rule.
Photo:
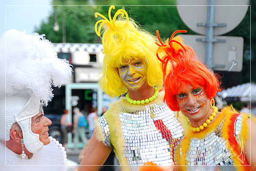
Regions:
<instances>
[{"instance_id":1,"label":"blurred pedestrian in pinkish top, closest to white-helmeted person's face","mask_svg":"<svg viewBox=\"0 0 256 171\"><path fill-rule=\"evenodd\" d=\"M62 114L61 116L61 120L60 120L60 125L61 125L61 130L63 133L63 139L62 139L62 144L65 147L65 149L68 149L67 143L68 143L68 132L71 132L72 129L70 130L70 128L72 128L72 123L70 123L68 121L68 114L69 114L69 110L67 110L66 108L64 109L64 114Z\"/></svg>"}]
</instances>

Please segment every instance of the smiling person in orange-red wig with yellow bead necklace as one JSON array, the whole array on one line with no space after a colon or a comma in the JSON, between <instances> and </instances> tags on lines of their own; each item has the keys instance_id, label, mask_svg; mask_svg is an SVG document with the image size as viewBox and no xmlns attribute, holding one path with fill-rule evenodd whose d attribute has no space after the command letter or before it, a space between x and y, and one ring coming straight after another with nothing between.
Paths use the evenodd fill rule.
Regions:
<instances>
[{"instance_id":1,"label":"smiling person in orange-red wig with yellow bead necklace","mask_svg":"<svg viewBox=\"0 0 256 171\"><path fill-rule=\"evenodd\" d=\"M232 106L221 112L214 97L222 88L219 76L199 61L176 31L165 44L159 38L157 57L162 62L164 100L189 120L189 129L177 152L181 165L249 165L250 116ZM167 68L171 68L167 70ZM180 154L180 155L179 155Z\"/></svg>"}]
</instances>

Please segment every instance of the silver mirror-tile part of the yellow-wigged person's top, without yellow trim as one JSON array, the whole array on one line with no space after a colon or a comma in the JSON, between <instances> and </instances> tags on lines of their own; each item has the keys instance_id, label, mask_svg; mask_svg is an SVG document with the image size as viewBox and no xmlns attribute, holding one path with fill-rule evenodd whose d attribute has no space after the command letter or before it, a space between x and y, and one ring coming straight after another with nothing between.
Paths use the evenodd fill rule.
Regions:
<instances>
[{"instance_id":1,"label":"silver mirror-tile part of the yellow-wigged person's top, without yellow trim","mask_svg":"<svg viewBox=\"0 0 256 171\"><path fill-rule=\"evenodd\" d=\"M147 105L145 109L137 111L128 107L120 108L122 110L119 112L119 119L125 142L124 156L128 164L143 165L147 161L154 161L158 165L176 165L174 153L183 138L183 128L175 113L163 102ZM104 143L112 147L105 117L99 121L106 139Z\"/></svg>"}]
</instances>

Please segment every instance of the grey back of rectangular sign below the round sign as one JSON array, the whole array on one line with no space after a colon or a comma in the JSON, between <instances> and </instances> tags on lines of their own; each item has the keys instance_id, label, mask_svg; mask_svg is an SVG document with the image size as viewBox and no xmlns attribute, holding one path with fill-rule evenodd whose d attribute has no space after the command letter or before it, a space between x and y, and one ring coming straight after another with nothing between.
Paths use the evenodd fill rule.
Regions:
<instances>
[{"instance_id":1,"label":"grey back of rectangular sign below the round sign","mask_svg":"<svg viewBox=\"0 0 256 171\"><path fill-rule=\"evenodd\" d=\"M198 41L205 39L204 35L182 35L184 43L191 46L197 57L203 63L206 62L206 43ZM219 43L213 43L212 69L218 71L240 72L243 67L243 43L242 37L233 36L214 36L215 40L225 40Z\"/></svg>"}]
</instances>

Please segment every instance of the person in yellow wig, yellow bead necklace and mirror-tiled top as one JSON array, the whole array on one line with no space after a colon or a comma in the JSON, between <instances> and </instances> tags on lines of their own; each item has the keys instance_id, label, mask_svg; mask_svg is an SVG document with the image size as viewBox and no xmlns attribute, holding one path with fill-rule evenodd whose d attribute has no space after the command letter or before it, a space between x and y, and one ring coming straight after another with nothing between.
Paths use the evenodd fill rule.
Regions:
<instances>
[{"instance_id":1,"label":"person in yellow wig, yellow bead necklace and mirror-tiled top","mask_svg":"<svg viewBox=\"0 0 256 171\"><path fill-rule=\"evenodd\" d=\"M109 20L99 16L95 31L104 46L99 85L111 97L120 96L95 123L81 165L102 165L114 149L120 165L176 165L183 128L176 113L163 103L161 64L155 56L156 37L128 18L124 9ZM118 17L118 18L117 18Z\"/></svg>"}]
</instances>

